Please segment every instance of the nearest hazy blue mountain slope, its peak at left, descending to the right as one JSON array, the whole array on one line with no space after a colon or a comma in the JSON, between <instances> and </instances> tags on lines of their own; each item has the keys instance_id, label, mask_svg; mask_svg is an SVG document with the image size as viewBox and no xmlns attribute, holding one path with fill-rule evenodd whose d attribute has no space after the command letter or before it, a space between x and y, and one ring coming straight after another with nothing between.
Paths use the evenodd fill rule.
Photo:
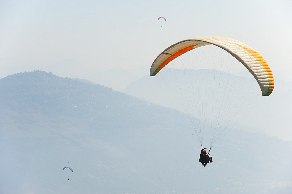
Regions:
<instances>
[{"instance_id":1,"label":"nearest hazy blue mountain slope, its peak at left, descending to the right","mask_svg":"<svg viewBox=\"0 0 292 194\"><path fill-rule=\"evenodd\" d=\"M291 142L232 130L202 167L174 110L42 71L0 89L0 193L291 191Z\"/></svg>"}]
</instances>

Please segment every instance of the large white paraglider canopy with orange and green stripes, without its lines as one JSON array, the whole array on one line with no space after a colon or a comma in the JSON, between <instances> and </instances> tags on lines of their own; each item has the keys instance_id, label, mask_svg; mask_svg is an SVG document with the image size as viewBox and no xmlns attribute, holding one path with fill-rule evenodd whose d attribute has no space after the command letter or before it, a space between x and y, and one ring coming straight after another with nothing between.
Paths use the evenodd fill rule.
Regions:
<instances>
[{"instance_id":1,"label":"large white paraglider canopy with orange and green stripes, without its lines","mask_svg":"<svg viewBox=\"0 0 292 194\"><path fill-rule=\"evenodd\" d=\"M269 96L272 93L274 77L265 59L248 45L238 40L220 36L193 38L171 45L155 59L151 66L150 75L155 76L170 61L185 52L210 44L226 50L241 62L258 81L263 96Z\"/></svg>"}]
</instances>

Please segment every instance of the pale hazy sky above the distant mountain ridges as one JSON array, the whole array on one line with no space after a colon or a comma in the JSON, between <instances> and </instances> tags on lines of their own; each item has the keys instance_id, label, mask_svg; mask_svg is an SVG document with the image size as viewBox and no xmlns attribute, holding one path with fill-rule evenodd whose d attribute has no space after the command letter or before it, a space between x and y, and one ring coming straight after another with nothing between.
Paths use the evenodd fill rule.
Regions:
<instances>
[{"instance_id":1,"label":"pale hazy sky above the distant mountain ridges","mask_svg":"<svg viewBox=\"0 0 292 194\"><path fill-rule=\"evenodd\" d=\"M272 70L291 69L291 8L289 0L2 0L0 65L74 59L92 72L151 66L180 40L225 36L253 47Z\"/></svg>"}]
</instances>

